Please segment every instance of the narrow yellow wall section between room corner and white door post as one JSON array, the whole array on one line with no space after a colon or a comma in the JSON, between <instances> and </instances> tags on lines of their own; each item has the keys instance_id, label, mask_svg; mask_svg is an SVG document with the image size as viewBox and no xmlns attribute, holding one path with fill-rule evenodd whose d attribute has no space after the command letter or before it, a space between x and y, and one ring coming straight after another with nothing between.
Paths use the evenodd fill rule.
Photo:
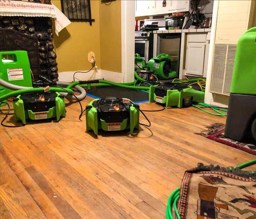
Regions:
<instances>
[{"instance_id":1,"label":"narrow yellow wall section between room corner and white door post","mask_svg":"<svg viewBox=\"0 0 256 219\"><path fill-rule=\"evenodd\" d=\"M99 3L101 69L121 72L121 1Z\"/></svg>"}]
</instances>

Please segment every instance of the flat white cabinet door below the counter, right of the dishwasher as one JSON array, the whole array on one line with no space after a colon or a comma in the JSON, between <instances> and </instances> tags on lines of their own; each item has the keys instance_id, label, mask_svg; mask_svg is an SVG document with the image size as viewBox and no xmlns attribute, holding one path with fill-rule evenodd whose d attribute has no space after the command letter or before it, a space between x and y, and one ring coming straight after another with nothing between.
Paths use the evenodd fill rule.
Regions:
<instances>
[{"instance_id":1,"label":"flat white cabinet door below the counter, right of the dishwasher","mask_svg":"<svg viewBox=\"0 0 256 219\"><path fill-rule=\"evenodd\" d=\"M186 74L203 76L205 43L188 43L186 53Z\"/></svg>"}]
</instances>

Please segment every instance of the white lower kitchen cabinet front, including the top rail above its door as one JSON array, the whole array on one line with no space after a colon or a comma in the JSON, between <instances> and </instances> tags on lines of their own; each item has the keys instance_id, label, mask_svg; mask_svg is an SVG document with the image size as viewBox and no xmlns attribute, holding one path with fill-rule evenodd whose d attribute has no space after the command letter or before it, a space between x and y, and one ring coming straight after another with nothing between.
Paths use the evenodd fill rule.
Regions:
<instances>
[{"instance_id":1,"label":"white lower kitchen cabinet front, including the top rail above its door","mask_svg":"<svg viewBox=\"0 0 256 219\"><path fill-rule=\"evenodd\" d=\"M206 77L209 40L205 32L188 33L185 76Z\"/></svg>"}]
</instances>

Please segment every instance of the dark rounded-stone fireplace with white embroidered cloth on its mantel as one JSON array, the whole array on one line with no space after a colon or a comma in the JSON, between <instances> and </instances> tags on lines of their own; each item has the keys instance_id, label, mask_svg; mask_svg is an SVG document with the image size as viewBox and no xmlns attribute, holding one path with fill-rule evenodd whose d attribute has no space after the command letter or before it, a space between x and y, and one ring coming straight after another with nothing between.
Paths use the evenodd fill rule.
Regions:
<instances>
[{"instance_id":1,"label":"dark rounded-stone fireplace with white embroidered cloth on its mantel","mask_svg":"<svg viewBox=\"0 0 256 219\"><path fill-rule=\"evenodd\" d=\"M49 4L50 0L33 1L38 3L0 0L0 15L3 15L0 16L0 50L26 50L35 80L39 79L39 75L44 75L58 81L57 55L53 51L52 17L57 20L56 34L70 22L59 9ZM42 2L47 4L41 4ZM19 7L20 12L17 12ZM12 14L25 16L8 16Z\"/></svg>"}]
</instances>

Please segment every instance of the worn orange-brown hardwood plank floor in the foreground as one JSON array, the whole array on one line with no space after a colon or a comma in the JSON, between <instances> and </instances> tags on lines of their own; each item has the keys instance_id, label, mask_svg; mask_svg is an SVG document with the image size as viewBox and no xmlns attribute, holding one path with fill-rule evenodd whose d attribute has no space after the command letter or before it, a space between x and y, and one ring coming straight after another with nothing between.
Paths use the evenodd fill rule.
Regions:
<instances>
[{"instance_id":1,"label":"worn orange-brown hardwood plank floor in the foreground","mask_svg":"<svg viewBox=\"0 0 256 219\"><path fill-rule=\"evenodd\" d=\"M193 107L146 112L152 126L141 126L136 137L101 132L98 138L85 132L85 116L78 120L79 104L66 109L59 122L1 126L1 218L165 218L185 170L198 162L233 166L255 159L195 134L226 118Z\"/></svg>"}]
</instances>

